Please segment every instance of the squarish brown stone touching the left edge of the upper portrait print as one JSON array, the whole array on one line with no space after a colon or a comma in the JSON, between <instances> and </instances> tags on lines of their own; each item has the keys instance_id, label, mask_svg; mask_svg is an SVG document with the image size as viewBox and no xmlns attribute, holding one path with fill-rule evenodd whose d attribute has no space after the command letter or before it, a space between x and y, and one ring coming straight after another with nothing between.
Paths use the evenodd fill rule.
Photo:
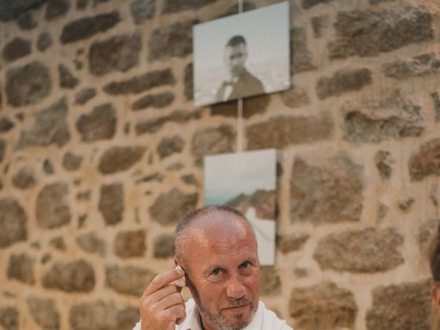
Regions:
<instances>
[{"instance_id":1,"label":"squarish brown stone touching the left edge of the upper portrait print","mask_svg":"<svg viewBox=\"0 0 440 330\"><path fill-rule=\"evenodd\" d=\"M172 57L185 58L192 54L192 26L197 23L197 20L190 19L154 30L147 41L148 61L166 61Z\"/></svg>"}]
</instances>

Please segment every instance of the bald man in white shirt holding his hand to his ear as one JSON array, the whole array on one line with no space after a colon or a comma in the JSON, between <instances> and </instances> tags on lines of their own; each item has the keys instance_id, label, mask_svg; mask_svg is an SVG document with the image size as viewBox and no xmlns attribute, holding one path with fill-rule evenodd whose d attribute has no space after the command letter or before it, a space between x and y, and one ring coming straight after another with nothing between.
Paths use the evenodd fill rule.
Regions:
<instances>
[{"instance_id":1,"label":"bald man in white shirt holding his hand to his ear","mask_svg":"<svg viewBox=\"0 0 440 330\"><path fill-rule=\"evenodd\" d=\"M292 330L259 301L256 237L241 212L207 206L188 214L175 230L175 254L181 269L153 278L133 330ZM187 302L176 284L183 276Z\"/></svg>"}]
</instances>

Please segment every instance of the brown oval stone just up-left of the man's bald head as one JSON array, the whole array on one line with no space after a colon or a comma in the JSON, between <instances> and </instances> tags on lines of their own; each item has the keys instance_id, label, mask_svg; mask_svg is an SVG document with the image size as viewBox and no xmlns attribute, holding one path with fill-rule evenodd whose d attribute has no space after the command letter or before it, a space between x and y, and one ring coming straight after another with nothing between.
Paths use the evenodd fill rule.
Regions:
<instances>
[{"instance_id":1,"label":"brown oval stone just up-left of the man's bald head","mask_svg":"<svg viewBox=\"0 0 440 330\"><path fill-rule=\"evenodd\" d=\"M149 208L153 221L161 225L175 225L190 211L195 209L199 194L186 194L177 188L159 195Z\"/></svg>"}]
</instances>

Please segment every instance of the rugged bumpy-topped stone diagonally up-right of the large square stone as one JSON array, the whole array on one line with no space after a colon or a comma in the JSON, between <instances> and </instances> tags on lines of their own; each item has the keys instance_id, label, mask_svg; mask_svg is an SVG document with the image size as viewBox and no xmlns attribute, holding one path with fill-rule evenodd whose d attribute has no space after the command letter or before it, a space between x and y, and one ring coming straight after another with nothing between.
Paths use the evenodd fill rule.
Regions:
<instances>
[{"instance_id":1,"label":"rugged bumpy-topped stone diagonally up-right of the large square stone","mask_svg":"<svg viewBox=\"0 0 440 330\"><path fill-rule=\"evenodd\" d=\"M402 91L382 100L346 102L341 110L343 138L353 143L418 137L424 130L421 107Z\"/></svg>"}]
</instances>

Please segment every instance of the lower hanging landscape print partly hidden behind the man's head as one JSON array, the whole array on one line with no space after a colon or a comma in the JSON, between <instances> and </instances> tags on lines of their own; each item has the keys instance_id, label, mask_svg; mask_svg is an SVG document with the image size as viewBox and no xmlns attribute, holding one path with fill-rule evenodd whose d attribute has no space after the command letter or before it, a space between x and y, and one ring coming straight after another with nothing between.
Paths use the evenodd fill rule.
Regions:
<instances>
[{"instance_id":1,"label":"lower hanging landscape print partly hidden behind the man's head","mask_svg":"<svg viewBox=\"0 0 440 330\"><path fill-rule=\"evenodd\" d=\"M205 205L243 212L256 234L261 265L275 264L276 150L206 156Z\"/></svg>"}]
</instances>

